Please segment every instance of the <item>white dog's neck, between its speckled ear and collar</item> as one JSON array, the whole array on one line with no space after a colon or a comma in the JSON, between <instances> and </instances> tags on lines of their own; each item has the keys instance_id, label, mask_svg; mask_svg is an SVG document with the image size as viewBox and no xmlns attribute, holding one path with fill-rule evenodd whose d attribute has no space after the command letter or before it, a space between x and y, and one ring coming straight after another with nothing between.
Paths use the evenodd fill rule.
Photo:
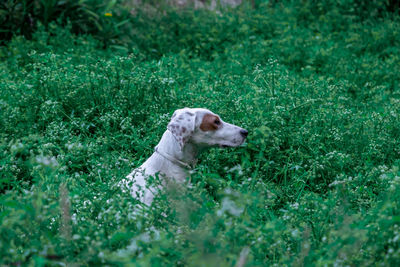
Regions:
<instances>
[{"instance_id":1,"label":"white dog's neck, between its speckled ear and collar","mask_svg":"<svg viewBox=\"0 0 400 267\"><path fill-rule=\"evenodd\" d=\"M196 164L197 156L200 152L199 147L192 143L186 143L183 148L181 148L178 141L169 130L164 132L157 145L157 150L161 154L167 154L168 156L190 166Z\"/></svg>"}]
</instances>

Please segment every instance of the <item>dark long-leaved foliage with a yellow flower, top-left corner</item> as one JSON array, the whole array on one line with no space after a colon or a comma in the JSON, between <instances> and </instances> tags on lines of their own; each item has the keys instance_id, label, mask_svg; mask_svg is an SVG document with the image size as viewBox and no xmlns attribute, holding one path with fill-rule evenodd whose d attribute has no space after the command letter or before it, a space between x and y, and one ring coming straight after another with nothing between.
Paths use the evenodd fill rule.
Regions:
<instances>
[{"instance_id":1,"label":"dark long-leaved foliage with a yellow flower, top-left corner","mask_svg":"<svg viewBox=\"0 0 400 267\"><path fill-rule=\"evenodd\" d=\"M120 27L128 10L121 8L121 1L101 0L3 0L0 2L0 44L15 34L30 39L38 25L56 21L69 23L74 33L91 33L112 45L120 37ZM111 13L111 11L113 11Z\"/></svg>"}]
</instances>

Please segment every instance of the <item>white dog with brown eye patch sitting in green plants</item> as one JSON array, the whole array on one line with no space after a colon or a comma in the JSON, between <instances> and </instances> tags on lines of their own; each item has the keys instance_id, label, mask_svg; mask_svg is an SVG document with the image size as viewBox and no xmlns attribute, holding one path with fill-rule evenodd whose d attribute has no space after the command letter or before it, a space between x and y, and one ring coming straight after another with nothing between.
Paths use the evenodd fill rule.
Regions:
<instances>
[{"instance_id":1,"label":"white dog with brown eye patch sitting in green plants","mask_svg":"<svg viewBox=\"0 0 400 267\"><path fill-rule=\"evenodd\" d=\"M207 109L176 110L154 153L127 176L128 181L133 182L132 195L150 205L159 188L147 186L146 178L159 174L164 185L167 177L184 182L201 150L210 146L239 146L247 134L245 129L222 121Z\"/></svg>"}]
</instances>

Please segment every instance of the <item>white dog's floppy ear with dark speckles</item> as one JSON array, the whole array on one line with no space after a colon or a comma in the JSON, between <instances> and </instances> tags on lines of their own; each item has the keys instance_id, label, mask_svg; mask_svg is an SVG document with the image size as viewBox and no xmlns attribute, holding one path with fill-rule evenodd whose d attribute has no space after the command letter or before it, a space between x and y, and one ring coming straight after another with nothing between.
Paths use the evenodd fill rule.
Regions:
<instances>
[{"instance_id":1,"label":"white dog's floppy ear with dark speckles","mask_svg":"<svg viewBox=\"0 0 400 267\"><path fill-rule=\"evenodd\" d=\"M190 108L178 109L171 117L167 129L174 135L182 149L194 132L196 114Z\"/></svg>"}]
</instances>

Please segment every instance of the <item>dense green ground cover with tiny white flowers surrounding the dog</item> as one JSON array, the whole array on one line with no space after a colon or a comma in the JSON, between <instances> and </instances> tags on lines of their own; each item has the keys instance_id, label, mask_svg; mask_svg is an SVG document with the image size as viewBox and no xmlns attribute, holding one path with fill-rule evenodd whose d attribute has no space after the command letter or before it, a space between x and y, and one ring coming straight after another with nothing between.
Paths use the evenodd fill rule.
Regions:
<instances>
[{"instance_id":1,"label":"dense green ground cover with tiny white flowers surrounding the dog","mask_svg":"<svg viewBox=\"0 0 400 267\"><path fill-rule=\"evenodd\" d=\"M136 10L110 40L39 24L1 47L1 264L399 264L398 15L283 3ZM247 144L143 212L117 184L185 106Z\"/></svg>"}]
</instances>

